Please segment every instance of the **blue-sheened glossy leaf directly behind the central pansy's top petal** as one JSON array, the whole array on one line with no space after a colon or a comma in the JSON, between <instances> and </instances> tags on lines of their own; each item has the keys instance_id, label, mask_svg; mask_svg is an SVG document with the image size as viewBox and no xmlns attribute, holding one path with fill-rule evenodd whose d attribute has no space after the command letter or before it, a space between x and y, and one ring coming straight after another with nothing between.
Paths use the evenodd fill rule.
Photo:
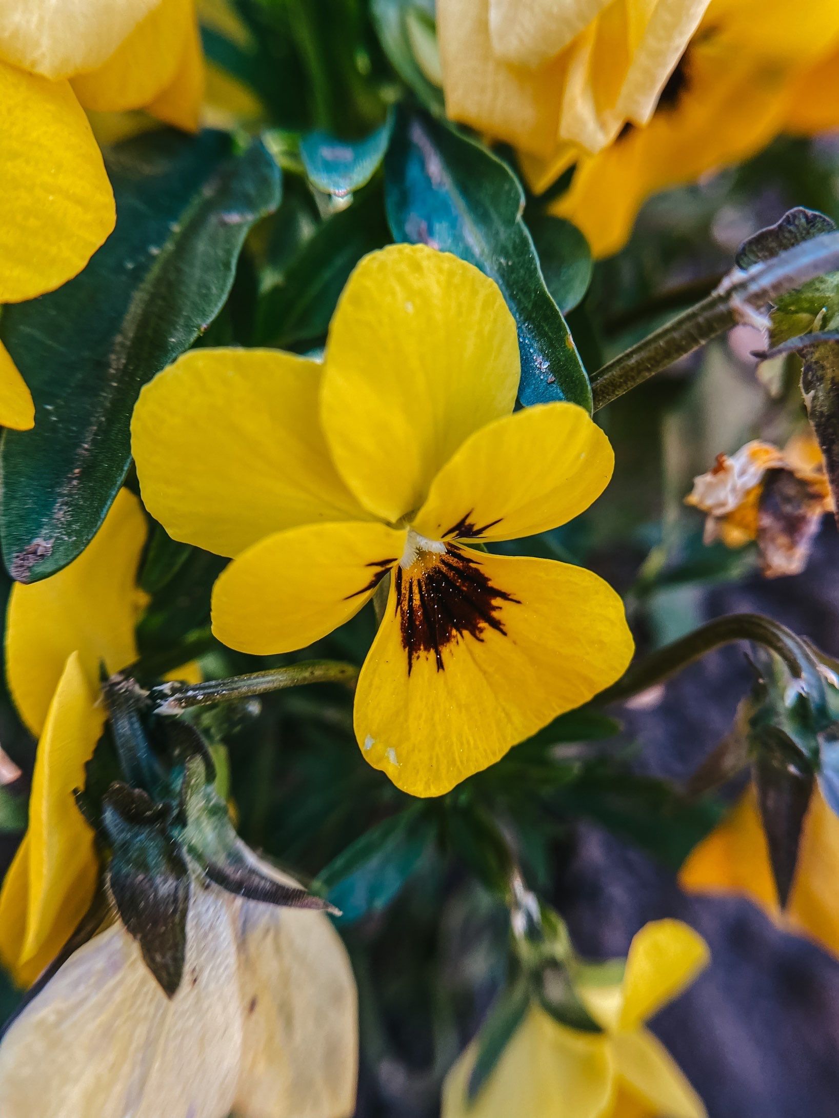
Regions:
<instances>
[{"instance_id":1,"label":"blue-sheened glossy leaf directly behind the central pansy's top petal","mask_svg":"<svg viewBox=\"0 0 839 1118\"><path fill-rule=\"evenodd\" d=\"M591 411L588 378L545 286L521 220L524 192L506 163L428 116L400 113L385 173L396 240L454 253L501 288L519 331L520 401L572 400Z\"/></svg>"}]
</instances>

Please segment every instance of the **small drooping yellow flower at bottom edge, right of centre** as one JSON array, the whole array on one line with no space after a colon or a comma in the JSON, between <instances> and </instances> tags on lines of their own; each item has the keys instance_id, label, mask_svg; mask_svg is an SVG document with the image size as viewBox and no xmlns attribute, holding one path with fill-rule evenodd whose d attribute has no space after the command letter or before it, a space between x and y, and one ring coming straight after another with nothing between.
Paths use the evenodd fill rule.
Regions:
<instances>
[{"instance_id":1,"label":"small drooping yellow flower at bottom edge, right of centre","mask_svg":"<svg viewBox=\"0 0 839 1118\"><path fill-rule=\"evenodd\" d=\"M602 1034L569 1029L532 1005L471 1105L475 1043L465 1050L443 1086L442 1118L704 1118L701 1100L644 1022L708 959L705 940L687 925L645 925L619 985L584 979L576 987Z\"/></svg>"}]
</instances>

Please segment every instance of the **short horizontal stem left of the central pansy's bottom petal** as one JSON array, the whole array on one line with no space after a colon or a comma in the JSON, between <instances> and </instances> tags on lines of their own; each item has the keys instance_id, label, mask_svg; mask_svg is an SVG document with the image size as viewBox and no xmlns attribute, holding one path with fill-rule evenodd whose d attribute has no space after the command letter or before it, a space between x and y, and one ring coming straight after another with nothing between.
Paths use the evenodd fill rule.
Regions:
<instances>
[{"instance_id":1,"label":"short horizontal stem left of the central pansy's bottom petal","mask_svg":"<svg viewBox=\"0 0 839 1118\"><path fill-rule=\"evenodd\" d=\"M236 702L254 695L298 688L307 683L346 683L353 686L358 669L334 660L311 660L286 667L272 667L267 672L251 672L227 680L207 680L206 683L183 685L162 683L152 688L149 698L157 714L179 714L190 707L209 707L219 702Z\"/></svg>"}]
</instances>

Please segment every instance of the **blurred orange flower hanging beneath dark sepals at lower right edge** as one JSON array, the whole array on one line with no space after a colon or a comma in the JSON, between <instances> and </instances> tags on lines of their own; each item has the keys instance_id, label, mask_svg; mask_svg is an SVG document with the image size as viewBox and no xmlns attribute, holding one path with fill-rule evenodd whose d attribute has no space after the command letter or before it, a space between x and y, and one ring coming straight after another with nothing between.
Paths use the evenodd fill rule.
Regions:
<instances>
[{"instance_id":1,"label":"blurred orange flower hanging beneath dark sepals at lower right edge","mask_svg":"<svg viewBox=\"0 0 839 1118\"><path fill-rule=\"evenodd\" d=\"M757 797L750 785L725 819L694 849L679 873L689 892L748 897L781 928L839 957L839 818L818 785L804 817L798 865L785 910L772 874Z\"/></svg>"}]
</instances>

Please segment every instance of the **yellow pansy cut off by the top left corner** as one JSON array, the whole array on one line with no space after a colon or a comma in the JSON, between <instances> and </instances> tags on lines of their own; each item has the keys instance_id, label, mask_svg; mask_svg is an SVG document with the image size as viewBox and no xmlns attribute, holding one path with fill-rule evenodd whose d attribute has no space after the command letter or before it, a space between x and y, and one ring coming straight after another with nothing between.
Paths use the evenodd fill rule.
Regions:
<instances>
[{"instance_id":1,"label":"yellow pansy cut off by the top left corner","mask_svg":"<svg viewBox=\"0 0 839 1118\"><path fill-rule=\"evenodd\" d=\"M0 0L0 303L59 287L114 227L85 110L147 108L195 130L201 88L195 0ZM0 426L34 421L0 345Z\"/></svg>"}]
</instances>

